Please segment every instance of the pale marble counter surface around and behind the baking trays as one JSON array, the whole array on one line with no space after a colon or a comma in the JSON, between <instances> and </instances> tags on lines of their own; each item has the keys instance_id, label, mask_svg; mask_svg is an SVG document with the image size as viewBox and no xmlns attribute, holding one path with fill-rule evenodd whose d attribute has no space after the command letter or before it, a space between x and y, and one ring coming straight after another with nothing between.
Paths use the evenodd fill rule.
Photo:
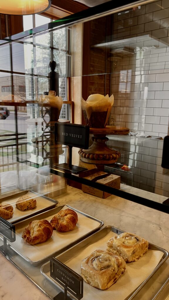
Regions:
<instances>
[{"instance_id":1,"label":"pale marble counter surface around and behind the baking trays","mask_svg":"<svg viewBox=\"0 0 169 300\"><path fill-rule=\"evenodd\" d=\"M68 204L86 214L103 220L104 226L111 225L127 232L136 233L146 238L152 244L169 250L168 214L164 212L118 196L112 195L106 199L101 199L69 186L67 193L57 196L57 200L59 201L58 205ZM21 258L17 254L12 260L51 298L54 298L59 293L59 289L41 275L40 266L30 266L23 259L23 262L21 262ZM44 300L50 298L26 278L2 253L0 253L0 264L0 299L28 300L31 297L33 300L40 298ZM168 265L169 260L164 262L134 297L134 300L152 300L155 297L158 290L169 277ZM167 300L168 296L169 293L166 292L165 288L165 296L158 297L158 300Z\"/></svg>"}]
</instances>

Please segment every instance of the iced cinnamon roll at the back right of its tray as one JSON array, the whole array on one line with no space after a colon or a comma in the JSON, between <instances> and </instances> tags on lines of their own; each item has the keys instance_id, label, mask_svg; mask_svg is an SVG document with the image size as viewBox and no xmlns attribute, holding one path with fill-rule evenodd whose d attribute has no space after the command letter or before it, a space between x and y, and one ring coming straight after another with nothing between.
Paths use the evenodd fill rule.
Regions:
<instances>
[{"instance_id":1,"label":"iced cinnamon roll at the back right of its tray","mask_svg":"<svg viewBox=\"0 0 169 300\"><path fill-rule=\"evenodd\" d=\"M133 262L146 253L149 243L140 236L124 232L110 238L107 246L107 251L122 256L126 262Z\"/></svg>"}]
</instances>

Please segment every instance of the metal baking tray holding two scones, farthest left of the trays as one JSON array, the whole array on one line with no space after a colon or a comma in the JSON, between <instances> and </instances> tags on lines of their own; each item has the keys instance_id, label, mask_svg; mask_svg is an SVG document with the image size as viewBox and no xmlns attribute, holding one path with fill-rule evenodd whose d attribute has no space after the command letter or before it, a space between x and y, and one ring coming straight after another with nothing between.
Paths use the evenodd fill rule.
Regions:
<instances>
[{"instance_id":1,"label":"metal baking tray holding two scones, farthest left of the trays","mask_svg":"<svg viewBox=\"0 0 169 300\"><path fill-rule=\"evenodd\" d=\"M30 196L30 198L36 199L36 206L33 209L27 209L25 211L21 211L16 207L16 202L21 196ZM36 214L39 214L43 211L49 210L51 208L54 208L58 201L53 200L49 197L40 195L32 190L24 190L19 193L15 193L11 196L0 198L0 203L7 202L11 204L14 208L14 213L10 219L8 219L8 222L15 224L18 221L25 220L29 218L30 216L35 216Z\"/></svg>"}]
</instances>

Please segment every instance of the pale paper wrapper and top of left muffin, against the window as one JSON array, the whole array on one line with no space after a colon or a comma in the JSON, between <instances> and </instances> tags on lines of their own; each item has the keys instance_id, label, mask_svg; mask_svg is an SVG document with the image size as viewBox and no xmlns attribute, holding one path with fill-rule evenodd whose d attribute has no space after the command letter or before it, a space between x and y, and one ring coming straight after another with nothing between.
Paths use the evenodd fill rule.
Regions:
<instances>
[{"instance_id":1,"label":"pale paper wrapper and top of left muffin, against the window","mask_svg":"<svg viewBox=\"0 0 169 300\"><path fill-rule=\"evenodd\" d=\"M63 100L60 96L48 96L48 95L40 95L39 96L40 104L47 104L46 106L54 107L56 112L56 120L59 119L60 111L62 108Z\"/></svg>"}]
</instances>

